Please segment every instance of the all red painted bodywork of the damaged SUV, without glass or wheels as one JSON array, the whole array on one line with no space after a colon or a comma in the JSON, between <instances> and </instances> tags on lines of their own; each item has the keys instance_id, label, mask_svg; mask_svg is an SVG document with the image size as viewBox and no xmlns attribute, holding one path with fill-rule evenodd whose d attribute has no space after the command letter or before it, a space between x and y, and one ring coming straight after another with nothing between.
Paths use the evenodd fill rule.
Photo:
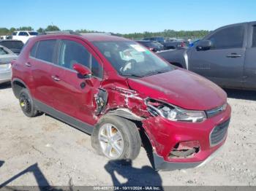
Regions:
<instances>
[{"instance_id":1,"label":"all red painted bodywork of the damaged SUV, without glass or wheels","mask_svg":"<svg viewBox=\"0 0 256 191\"><path fill-rule=\"evenodd\" d=\"M69 39L83 44L104 68L103 79L79 79L76 71L61 69L53 63L44 63L29 57L31 47L41 39ZM128 39L99 34L74 36L54 34L37 36L29 40L17 61L12 62L12 82L19 79L29 88L33 98L71 117L96 125L100 117L114 109L129 109L143 117L143 128L157 155L167 162L192 163L206 160L225 140L211 147L209 134L216 125L230 118L230 106L224 112L203 122L174 122L163 117L152 116L145 98L155 98L184 109L208 110L227 102L226 93L214 83L183 69L156 74L150 77L125 78L118 75L104 55L91 43L93 41L129 41ZM25 63L31 63L26 67ZM58 77L59 82L53 80ZM81 88L81 83L86 87ZM105 111L96 114L95 95L99 88L108 93ZM180 141L199 141L200 152L187 158L170 158L171 149Z\"/></svg>"}]
</instances>

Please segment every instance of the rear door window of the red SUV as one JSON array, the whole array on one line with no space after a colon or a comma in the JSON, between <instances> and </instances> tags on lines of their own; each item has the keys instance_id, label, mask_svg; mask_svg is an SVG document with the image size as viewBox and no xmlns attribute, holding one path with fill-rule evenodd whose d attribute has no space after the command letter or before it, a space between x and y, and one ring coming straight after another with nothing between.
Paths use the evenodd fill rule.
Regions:
<instances>
[{"instance_id":1,"label":"rear door window of the red SUV","mask_svg":"<svg viewBox=\"0 0 256 191\"><path fill-rule=\"evenodd\" d=\"M39 44L37 45L36 58L42 61L53 63L53 52L55 50L55 47L56 47L56 40L40 41Z\"/></svg>"}]
</instances>

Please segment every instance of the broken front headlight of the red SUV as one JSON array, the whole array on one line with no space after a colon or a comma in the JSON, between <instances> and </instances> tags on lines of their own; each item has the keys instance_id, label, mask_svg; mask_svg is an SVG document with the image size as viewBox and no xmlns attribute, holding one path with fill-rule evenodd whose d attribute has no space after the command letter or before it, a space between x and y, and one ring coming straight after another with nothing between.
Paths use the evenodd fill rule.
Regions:
<instances>
[{"instance_id":1,"label":"broken front headlight of the red SUV","mask_svg":"<svg viewBox=\"0 0 256 191\"><path fill-rule=\"evenodd\" d=\"M206 113L203 111L192 111L181 109L178 106L166 104L162 101L147 99L148 112L154 116L160 115L171 121L181 122L202 122L206 120Z\"/></svg>"}]
</instances>

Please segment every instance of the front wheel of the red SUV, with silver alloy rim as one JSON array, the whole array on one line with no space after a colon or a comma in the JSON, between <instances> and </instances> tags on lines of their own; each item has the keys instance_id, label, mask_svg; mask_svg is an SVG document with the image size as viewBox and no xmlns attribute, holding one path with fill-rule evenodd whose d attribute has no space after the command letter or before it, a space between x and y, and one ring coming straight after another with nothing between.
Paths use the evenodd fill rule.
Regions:
<instances>
[{"instance_id":1,"label":"front wheel of the red SUV, with silver alloy rim","mask_svg":"<svg viewBox=\"0 0 256 191\"><path fill-rule=\"evenodd\" d=\"M91 144L111 160L134 160L140 153L141 139L134 122L107 115L94 128Z\"/></svg>"}]
</instances>

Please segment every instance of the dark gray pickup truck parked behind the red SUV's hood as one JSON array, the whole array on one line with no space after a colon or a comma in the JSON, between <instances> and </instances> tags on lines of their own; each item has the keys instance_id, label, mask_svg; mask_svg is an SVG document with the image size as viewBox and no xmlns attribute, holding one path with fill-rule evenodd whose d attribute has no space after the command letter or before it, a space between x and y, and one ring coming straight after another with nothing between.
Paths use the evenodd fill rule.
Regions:
<instances>
[{"instance_id":1,"label":"dark gray pickup truck parked behind the red SUV's hood","mask_svg":"<svg viewBox=\"0 0 256 191\"><path fill-rule=\"evenodd\" d=\"M256 90L256 21L223 26L194 47L159 55L221 87Z\"/></svg>"}]
</instances>

